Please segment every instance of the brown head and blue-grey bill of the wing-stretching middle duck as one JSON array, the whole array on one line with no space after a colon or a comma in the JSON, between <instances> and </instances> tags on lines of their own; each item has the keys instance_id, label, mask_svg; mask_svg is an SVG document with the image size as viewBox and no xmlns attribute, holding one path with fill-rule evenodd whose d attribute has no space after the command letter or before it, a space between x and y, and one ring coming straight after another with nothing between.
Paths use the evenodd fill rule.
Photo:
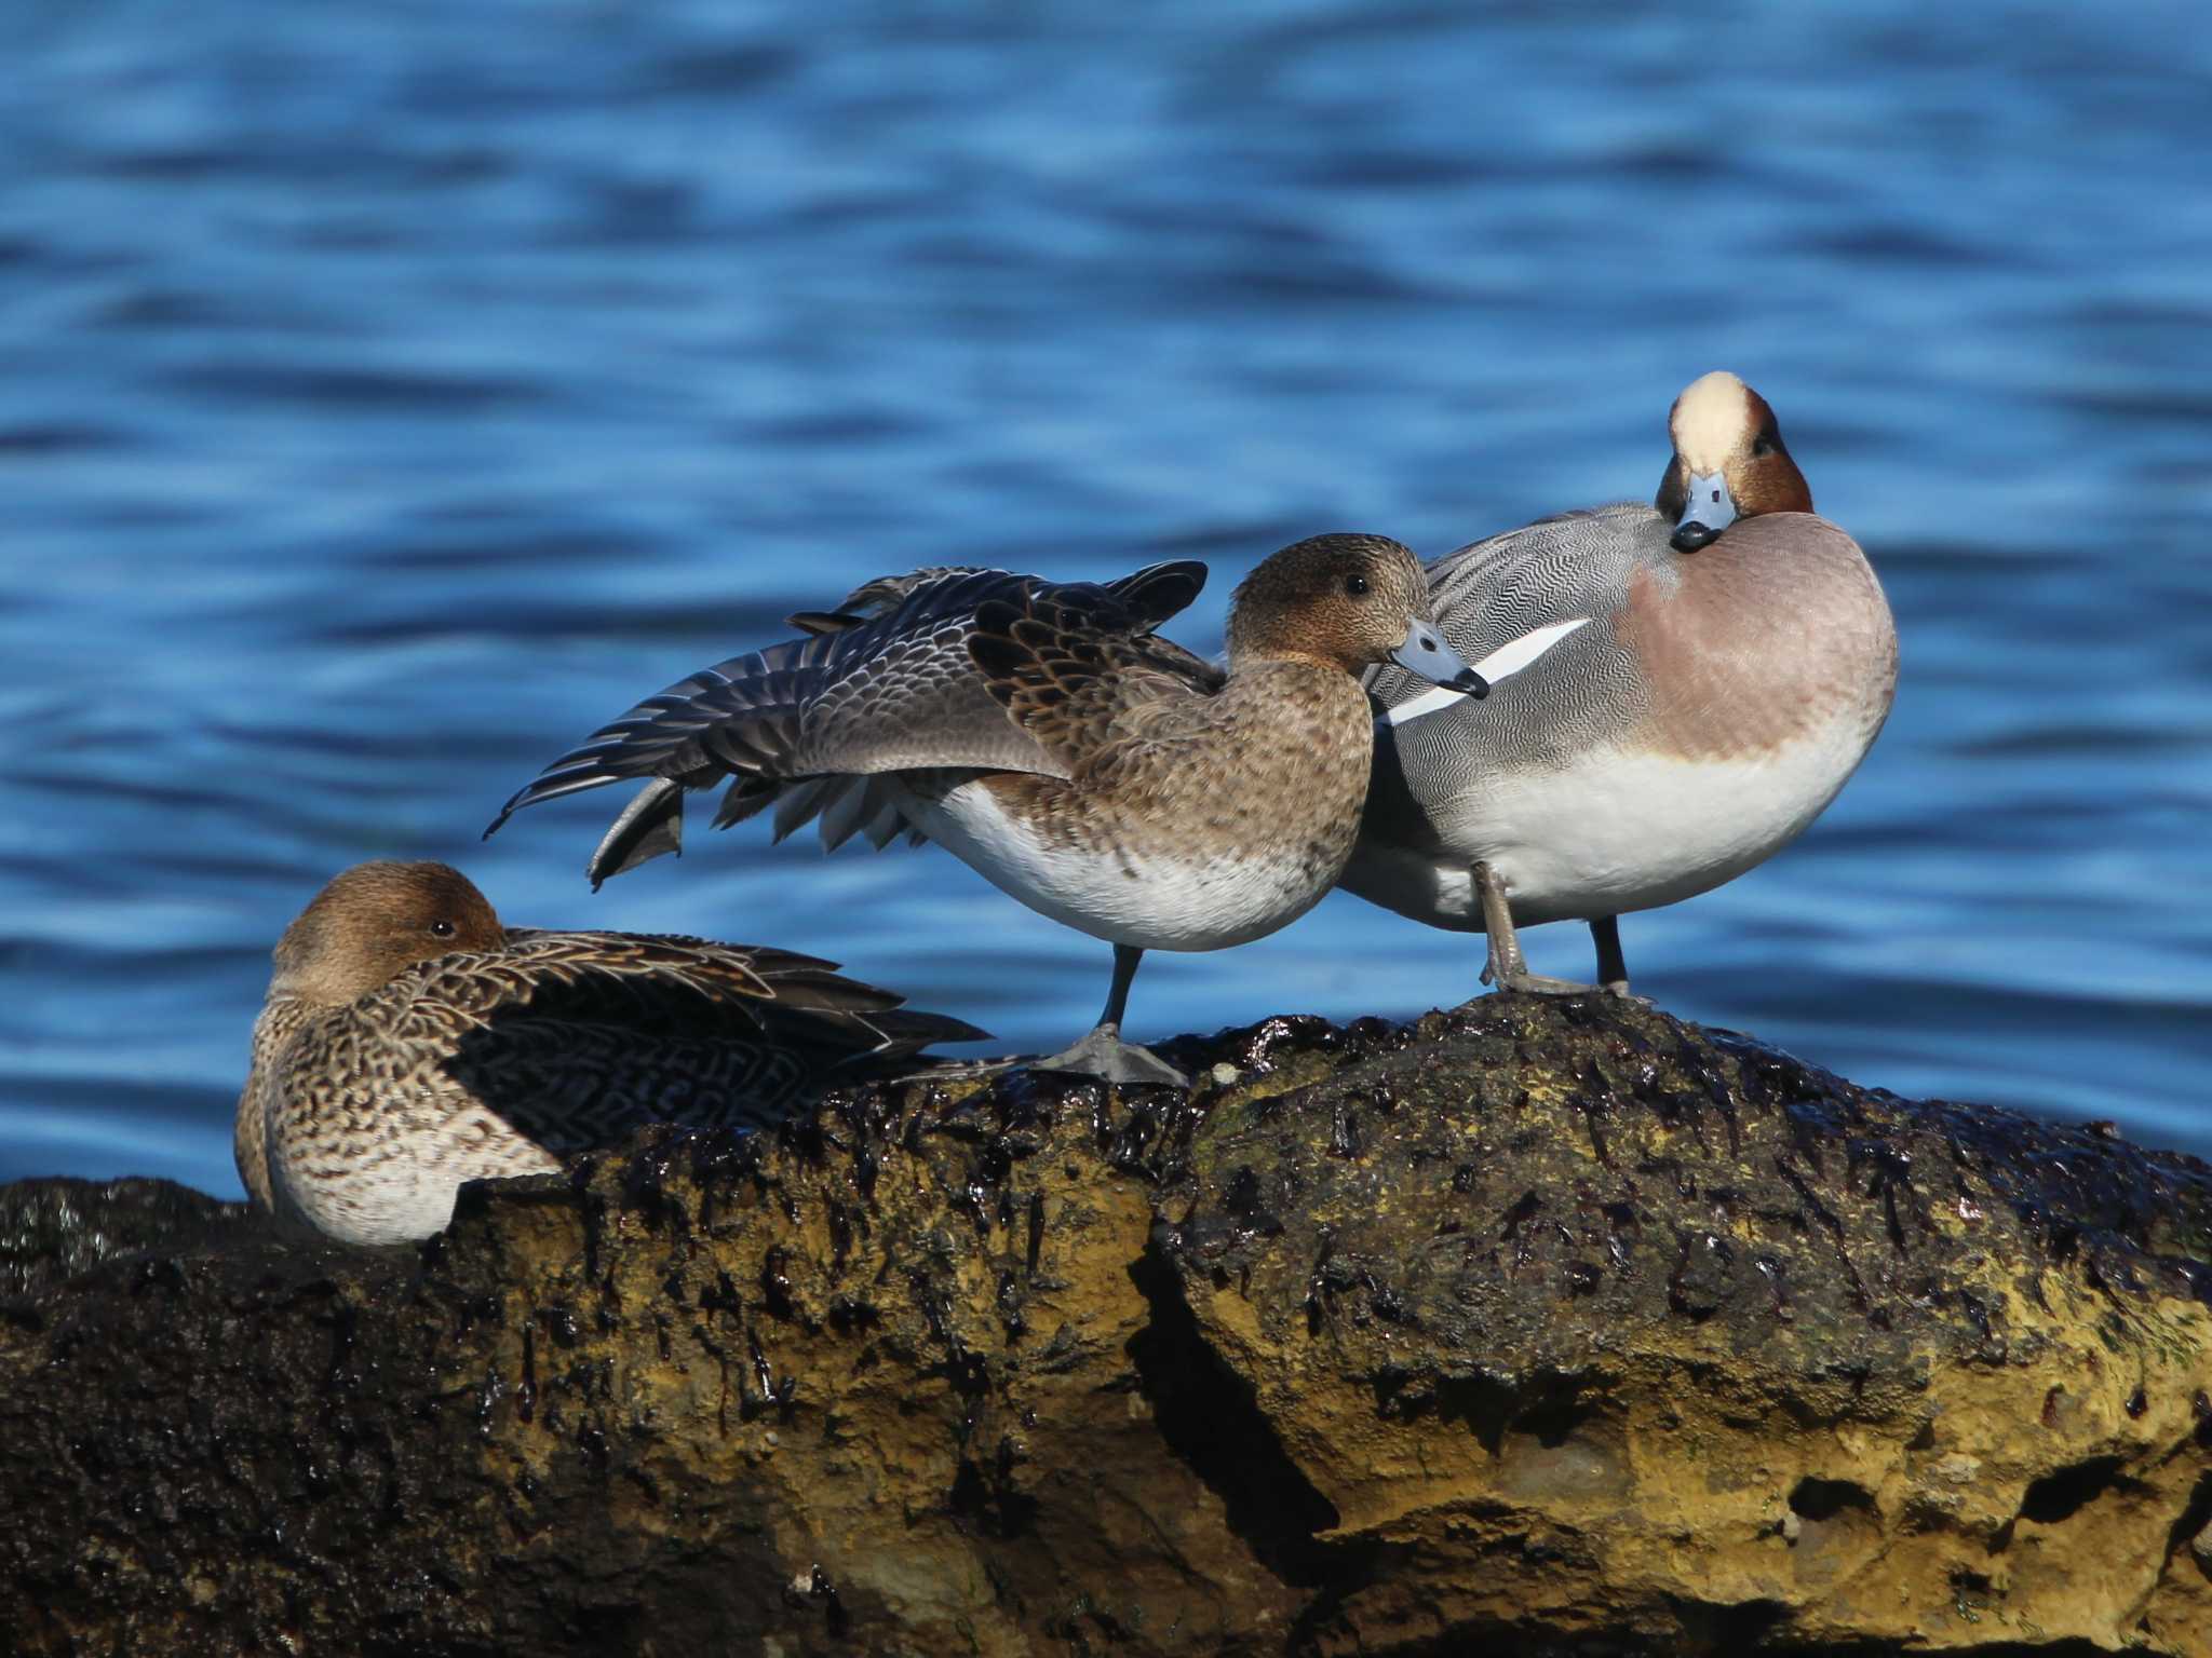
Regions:
<instances>
[{"instance_id":1,"label":"brown head and blue-grey bill of the wing-stretching middle duck","mask_svg":"<svg viewBox=\"0 0 2212 1658\"><path fill-rule=\"evenodd\" d=\"M1387 535L1310 535L1261 559L1230 601L1230 672L1318 661L1360 674L1385 661L1469 696L1489 683L1444 643L1429 573Z\"/></svg>"}]
</instances>

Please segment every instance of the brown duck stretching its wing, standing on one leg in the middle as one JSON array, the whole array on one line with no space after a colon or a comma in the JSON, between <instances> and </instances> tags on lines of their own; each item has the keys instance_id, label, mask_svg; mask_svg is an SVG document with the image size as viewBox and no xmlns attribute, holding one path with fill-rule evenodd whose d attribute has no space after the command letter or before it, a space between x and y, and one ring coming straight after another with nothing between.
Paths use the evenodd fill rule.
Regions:
<instances>
[{"instance_id":1,"label":"brown duck stretching its wing, standing on one leg in the middle","mask_svg":"<svg viewBox=\"0 0 2212 1658\"><path fill-rule=\"evenodd\" d=\"M681 805L730 778L728 827L929 840L1040 915L1113 944L1093 1030L1037 1070L1186 1085L1121 1039L1146 951L1223 951L1305 915L1358 833L1374 752L1360 674L1391 661L1451 696L1489 690L1440 637L1413 553L1332 533L1237 588L1228 665L1155 630L1199 562L1115 581L980 568L880 577L803 634L677 681L553 760L500 809L646 780L593 884L681 849Z\"/></svg>"}]
</instances>

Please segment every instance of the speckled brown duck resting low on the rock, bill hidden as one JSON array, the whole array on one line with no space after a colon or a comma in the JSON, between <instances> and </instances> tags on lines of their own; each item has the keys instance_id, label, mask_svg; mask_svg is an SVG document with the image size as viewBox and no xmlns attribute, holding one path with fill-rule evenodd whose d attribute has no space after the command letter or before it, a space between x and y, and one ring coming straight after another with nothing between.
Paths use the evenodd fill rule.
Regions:
<instances>
[{"instance_id":1,"label":"speckled brown duck resting low on the rock, bill hidden","mask_svg":"<svg viewBox=\"0 0 2212 1658\"><path fill-rule=\"evenodd\" d=\"M763 1127L982 1039L812 955L504 926L449 864L367 862L276 942L232 1154L283 1231L409 1242L462 1180L551 1174L644 1123Z\"/></svg>"}]
</instances>

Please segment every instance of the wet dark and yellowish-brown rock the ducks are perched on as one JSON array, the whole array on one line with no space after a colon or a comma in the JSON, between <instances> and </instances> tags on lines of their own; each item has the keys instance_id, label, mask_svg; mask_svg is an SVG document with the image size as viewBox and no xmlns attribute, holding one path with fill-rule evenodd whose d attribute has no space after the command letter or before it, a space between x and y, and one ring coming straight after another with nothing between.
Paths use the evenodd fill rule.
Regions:
<instances>
[{"instance_id":1,"label":"wet dark and yellowish-brown rock the ducks are perched on","mask_svg":"<svg viewBox=\"0 0 2212 1658\"><path fill-rule=\"evenodd\" d=\"M398 1251L33 1271L0 1629L2212 1651L2203 1163L1601 997L1168 1057L655 1130Z\"/></svg>"}]
</instances>

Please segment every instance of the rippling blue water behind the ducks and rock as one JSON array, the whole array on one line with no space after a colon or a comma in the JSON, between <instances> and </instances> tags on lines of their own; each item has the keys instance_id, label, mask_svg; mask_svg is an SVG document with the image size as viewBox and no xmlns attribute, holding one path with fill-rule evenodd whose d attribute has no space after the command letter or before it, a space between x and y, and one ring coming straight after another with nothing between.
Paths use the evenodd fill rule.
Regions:
<instances>
[{"instance_id":1,"label":"rippling blue water behind the ducks and rock","mask_svg":"<svg viewBox=\"0 0 2212 1658\"><path fill-rule=\"evenodd\" d=\"M834 13L834 15L830 15ZM1438 553L1776 405L1896 716L1639 988L1867 1083L2212 1150L2201 9L18 9L0 77L0 1178L237 1192L336 869L838 957L1057 1043L1104 946L761 825L582 880L535 767L929 562ZM27 18L35 18L27 22ZM1577 926L1531 935L1584 973ZM1469 995L1332 898L1133 1032Z\"/></svg>"}]
</instances>

